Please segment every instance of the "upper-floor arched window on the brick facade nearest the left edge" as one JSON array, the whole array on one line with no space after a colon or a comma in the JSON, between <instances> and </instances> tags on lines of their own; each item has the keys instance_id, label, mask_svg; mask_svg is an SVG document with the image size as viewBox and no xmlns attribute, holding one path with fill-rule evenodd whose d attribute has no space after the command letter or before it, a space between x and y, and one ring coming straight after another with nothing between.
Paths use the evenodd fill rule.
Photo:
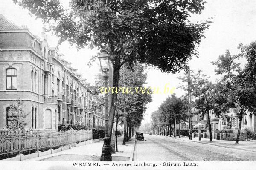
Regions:
<instances>
[{"instance_id":1,"label":"upper-floor arched window on the brick facade nearest the left edge","mask_svg":"<svg viewBox=\"0 0 256 170\"><path fill-rule=\"evenodd\" d=\"M7 69L6 70L6 89L16 90L17 89L17 70Z\"/></svg>"}]
</instances>

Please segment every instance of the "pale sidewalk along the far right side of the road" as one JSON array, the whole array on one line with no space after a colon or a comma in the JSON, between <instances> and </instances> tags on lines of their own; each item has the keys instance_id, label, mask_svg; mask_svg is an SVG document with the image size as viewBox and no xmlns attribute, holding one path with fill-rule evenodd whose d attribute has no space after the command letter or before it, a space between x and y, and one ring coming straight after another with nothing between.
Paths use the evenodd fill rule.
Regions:
<instances>
[{"instance_id":1,"label":"pale sidewalk along the far right side of the road","mask_svg":"<svg viewBox=\"0 0 256 170\"><path fill-rule=\"evenodd\" d=\"M169 136L161 136L161 137L169 137ZM169 137L170 138L170 137ZM172 139L183 140L183 141L191 141L187 136L177 136L176 138L171 137ZM201 138L201 141L198 141L198 137L193 138L192 142L197 142L201 144L210 144L218 147L232 148L237 150L245 150L250 152L256 152L256 141L239 141L239 144L235 144L236 141L226 141L226 140L217 140L212 139L210 142L209 138Z\"/></svg>"}]
</instances>

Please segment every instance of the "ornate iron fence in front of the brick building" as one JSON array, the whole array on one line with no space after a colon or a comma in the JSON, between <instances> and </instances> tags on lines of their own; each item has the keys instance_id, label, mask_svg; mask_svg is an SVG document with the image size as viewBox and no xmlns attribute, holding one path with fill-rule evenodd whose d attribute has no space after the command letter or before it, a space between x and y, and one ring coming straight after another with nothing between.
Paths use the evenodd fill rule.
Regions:
<instances>
[{"instance_id":1,"label":"ornate iron fence in front of the brick building","mask_svg":"<svg viewBox=\"0 0 256 170\"><path fill-rule=\"evenodd\" d=\"M0 159L9 158L15 154L28 151L42 150L74 145L76 142L92 139L92 130L68 130L68 131L0 131Z\"/></svg>"}]
</instances>

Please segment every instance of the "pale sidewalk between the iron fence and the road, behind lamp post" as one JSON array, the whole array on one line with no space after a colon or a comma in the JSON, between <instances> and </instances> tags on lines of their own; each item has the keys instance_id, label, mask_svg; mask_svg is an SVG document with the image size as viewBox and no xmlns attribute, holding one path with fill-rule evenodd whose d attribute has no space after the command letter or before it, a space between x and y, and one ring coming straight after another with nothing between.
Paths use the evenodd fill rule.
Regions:
<instances>
[{"instance_id":1,"label":"pale sidewalk between the iron fence and the road, behind lamp post","mask_svg":"<svg viewBox=\"0 0 256 170\"><path fill-rule=\"evenodd\" d=\"M135 139L131 138L126 145L122 145L123 137L118 138L118 151L112 154L112 161L129 161L134 151ZM58 153L26 159L26 161L99 161L102 153L103 141L72 147Z\"/></svg>"}]
</instances>

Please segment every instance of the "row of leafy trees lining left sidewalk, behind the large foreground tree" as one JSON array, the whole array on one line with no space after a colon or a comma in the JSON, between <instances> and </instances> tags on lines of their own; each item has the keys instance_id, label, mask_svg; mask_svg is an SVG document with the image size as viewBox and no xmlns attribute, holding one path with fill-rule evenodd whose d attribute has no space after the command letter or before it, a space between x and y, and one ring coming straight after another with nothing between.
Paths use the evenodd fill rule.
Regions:
<instances>
[{"instance_id":1,"label":"row of leafy trees lining left sidewalk, behind the large foreground tree","mask_svg":"<svg viewBox=\"0 0 256 170\"><path fill-rule=\"evenodd\" d=\"M142 87L145 85L147 74L145 73L145 66L140 63L134 64L132 68L122 67L120 70L120 87L128 87L134 89L135 87ZM101 94L100 88L103 86L102 75L96 76L94 86L91 86L93 93L96 95L97 102L94 104L94 109L102 109L104 106L104 95ZM142 93L122 93L120 91L117 94L115 122L116 131L118 130L118 124L124 127L124 139L123 144L131 138L134 129L137 129L141 125L143 115L145 113L145 105L151 102L151 95ZM117 133L116 133L116 151L117 148Z\"/></svg>"}]
</instances>

